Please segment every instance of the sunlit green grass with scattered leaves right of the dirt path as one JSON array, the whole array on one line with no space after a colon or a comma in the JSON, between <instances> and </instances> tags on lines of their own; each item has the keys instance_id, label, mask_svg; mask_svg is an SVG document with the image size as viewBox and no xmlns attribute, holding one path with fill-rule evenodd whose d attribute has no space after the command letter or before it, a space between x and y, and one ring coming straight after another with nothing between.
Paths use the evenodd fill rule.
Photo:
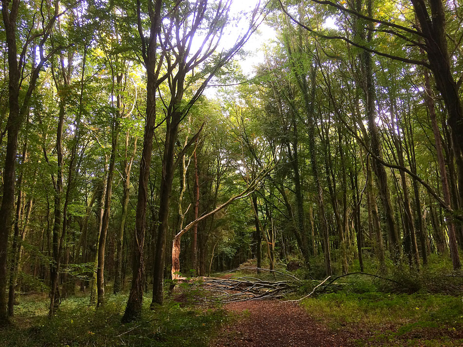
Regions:
<instances>
[{"instance_id":1,"label":"sunlit green grass with scattered leaves right of the dirt path","mask_svg":"<svg viewBox=\"0 0 463 347\"><path fill-rule=\"evenodd\" d=\"M461 296L338 292L303 305L332 329L365 333L359 346L463 346Z\"/></svg>"}]
</instances>

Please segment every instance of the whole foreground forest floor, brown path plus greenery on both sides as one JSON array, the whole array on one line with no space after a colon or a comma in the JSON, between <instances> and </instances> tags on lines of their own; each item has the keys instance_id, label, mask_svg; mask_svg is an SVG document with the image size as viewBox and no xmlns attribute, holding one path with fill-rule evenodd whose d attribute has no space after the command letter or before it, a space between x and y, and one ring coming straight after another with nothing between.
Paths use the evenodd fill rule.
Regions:
<instances>
[{"instance_id":1,"label":"whole foreground forest floor, brown path plus greenery on both sides","mask_svg":"<svg viewBox=\"0 0 463 347\"><path fill-rule=\"evenodd\" d=\"M47 318L48 297L22 294L1 347L463 347L461 294L392 293L365 281L340 292L320 293L298 305L276 299L221 304L180 286L165 304L122 325L127 294L109 294L95 309L76 292ZM111 292L108 288L107 292ZM198 300L202 297L203 300Z\"/></svg>"}]
</instances>

